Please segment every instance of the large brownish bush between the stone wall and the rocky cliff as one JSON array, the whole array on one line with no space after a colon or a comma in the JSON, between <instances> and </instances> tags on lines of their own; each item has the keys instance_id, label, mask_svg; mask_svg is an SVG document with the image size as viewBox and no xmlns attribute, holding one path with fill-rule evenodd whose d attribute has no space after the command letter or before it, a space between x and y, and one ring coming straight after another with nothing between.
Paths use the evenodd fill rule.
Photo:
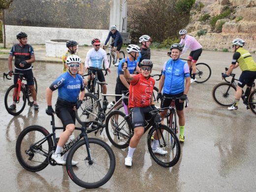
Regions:
<instances>
[{"instance_id":1,"label":"large brownish bush between the stone wall and the rocky cliff","mask_svg":"<svg viewBox=\"0 0 256 192\"><path fill-rule=\"evenodd\" d=\"M185 5L181 6L181 2ZM138 37L142 34L148 34L153 41L158 42L167 38L174 39L179 30L189 23L193 2L194 0L149 0L143 6L132 7L128 14L128 30L133 42L138 42Z\"/></svg>"}]
</instances>

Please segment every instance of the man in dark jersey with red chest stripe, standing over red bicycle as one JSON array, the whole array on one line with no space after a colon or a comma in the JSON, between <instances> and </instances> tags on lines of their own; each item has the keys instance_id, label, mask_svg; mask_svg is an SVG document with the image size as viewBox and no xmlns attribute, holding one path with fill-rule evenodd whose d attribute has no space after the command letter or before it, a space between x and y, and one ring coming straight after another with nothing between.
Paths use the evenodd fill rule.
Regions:
<instances>
[{"instance_id":1,"label":"man in dark jersey with red chest stripe, standing over red bicycle","mask_svg":"<svg viewBox=\"0 0 256 192\"><path fill-rule=\"evenodd\" d=\"M15 65L15 73L23 73L24 77L27 79L27 85L31 91L31 95L33 98L34 110L38 110L38 104L36 101L36 91L34 89L34 80L33 80L33 72L32 72L32 63L35 62L34 58L34 50L28 42L28 35L26 32L19 32L16 35L19 43L12 46L10 55L8 58L8 67L9 67L9 75L12 76L12 59L15 57L14 65ZM14 75L14 84L18 81L18 75ZM9 107L10 110L16 109L16 101Z\"/></svg>"}]
</instances>

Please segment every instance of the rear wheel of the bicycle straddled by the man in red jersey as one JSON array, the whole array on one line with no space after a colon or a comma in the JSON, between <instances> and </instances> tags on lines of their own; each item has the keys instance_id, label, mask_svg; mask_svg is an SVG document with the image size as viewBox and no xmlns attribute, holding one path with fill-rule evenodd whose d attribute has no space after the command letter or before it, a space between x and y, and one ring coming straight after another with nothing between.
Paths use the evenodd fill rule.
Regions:
<instances>
[{"instance_id":1,"label":"rear wheel of the bicycle straddled by the man in red jersey","mask_svg":"<svg viewBox=\"0 0 256 192\"><path fill-rule=\"evenodd\" d=\"M106 118L106 134L109 141L119 149L129 146L131 139L131 122L125 118L126 114L119 110L109 113Z\"/></svg>"}]
</instances>

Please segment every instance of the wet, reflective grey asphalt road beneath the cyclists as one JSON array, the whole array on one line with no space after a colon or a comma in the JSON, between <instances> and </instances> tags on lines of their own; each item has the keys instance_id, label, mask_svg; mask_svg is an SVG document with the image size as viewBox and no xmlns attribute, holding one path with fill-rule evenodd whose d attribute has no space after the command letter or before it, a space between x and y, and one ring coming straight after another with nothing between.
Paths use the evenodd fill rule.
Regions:
<instances>
[{"instance_id":1,"label":"wet, reflective grey asphalt road beneath the cyclists","mask_svg":"<svg viewBox=\"0 0 256 192\"><path fill-rule=\"evenodd\" d=\"M161 64L168 58L166 51L153 51L153 74L160 73ZM256 55L253 55L256 59ZM156 192L245 192L255 191L256 181L256 116L246 110L240 101L239 109L228 111L212 99L212 88L222 82L221 72L228 66L232 53L203 51L199 62L211 66L212 76L204 84L192 84L189 107L185 109L185 143L181 144L179 162L172 168L163 168L151 159L146 145L146 134L141 139L127 168L124 160L127 149L111 146L105 131L97 135L114 150L116 169L112 178L92 192L156 191ZM0 74L8 71L7 61L0 61ZM114 93L116 67L106 77L108 93ZM41 125L51 132L50 116L45 114L45 89L61 73L62 64L35 63L34 76L38 83L39 111L28 105L21 115L13 117L4 107L4 94L12 80L0 78L0 188L2 192L86 191L74 184L64 166L48 165L37 173L26 171L15 154L19 133L30 125ZM241 73L237 68L234 71ZM158 85L158 82L157 82ZM57 92L54 93L55 102ZM111 100L109 98L108 100ZM60 121L58 123L60 124ZM58 133L57 133L58 134ZM95 137L94 133L90 133Z\"/></svg>"}]
</instances>

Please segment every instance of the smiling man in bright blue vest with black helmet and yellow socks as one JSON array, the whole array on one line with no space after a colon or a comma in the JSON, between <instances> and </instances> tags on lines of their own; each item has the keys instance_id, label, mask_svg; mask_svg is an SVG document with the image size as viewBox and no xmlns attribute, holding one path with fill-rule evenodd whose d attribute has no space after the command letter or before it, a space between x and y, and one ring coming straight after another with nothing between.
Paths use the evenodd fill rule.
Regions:
<instances>
[{"instance_id":1,"label":"smiling man in bright blue vest with black helmet and yellow socks","mask_svg":"<svg viewBox=\"0 0 256 192\"><path fill-rule=\"evenodd\" d=\"M189 65L180 59L182 52L182 46L178 43L174 43L171 46L171 59L163 64L162 75L159 83L159 93L157 99L166 97L180 97L181 99L175 100L175 107L177 115L179 117L180 127L180 142L184 142L184 129L185 129L185 116L184 116L184 100L187 98L190 89L190 68ZM184 86L184 79L186 80L186 87ZM161 91L163 89L163 95ZM168 107L171 104L171 100L164 98L161 107ZM163 120L167 110L160 113ZM163 124L163 122L161 122Z\"/></svg>"}]
</instances>

